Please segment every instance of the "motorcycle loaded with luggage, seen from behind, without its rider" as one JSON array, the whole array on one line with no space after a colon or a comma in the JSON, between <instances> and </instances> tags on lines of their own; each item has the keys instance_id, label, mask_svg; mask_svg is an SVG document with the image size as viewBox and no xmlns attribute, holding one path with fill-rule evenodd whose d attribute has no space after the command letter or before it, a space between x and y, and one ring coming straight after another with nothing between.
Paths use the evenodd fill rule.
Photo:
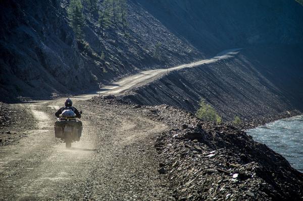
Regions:
<instances>
[{"instance_id":1,"label":"motorcycle loaded with luggage, seen from behind, without its rider","mask_svg":"<svg viewBox=\"0 0 303 201\"><path fill-rule=\"evenodd\" d=\"M82 114L82 111L79 112ZM55 122L55 137L65 142L67 149L71 148L72 142L79 142L82 134L82 122L76 119L76 114L66 109L60 114Z\"/></svg>"}]
</instances>

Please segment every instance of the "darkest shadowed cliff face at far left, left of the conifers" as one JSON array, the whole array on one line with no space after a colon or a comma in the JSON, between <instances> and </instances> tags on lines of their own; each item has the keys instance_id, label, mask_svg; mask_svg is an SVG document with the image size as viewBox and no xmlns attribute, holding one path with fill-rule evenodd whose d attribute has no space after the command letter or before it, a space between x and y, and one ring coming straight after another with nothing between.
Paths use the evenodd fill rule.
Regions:
<instances>
[{"instance_id":1,"label":"darkest shadowed cliff face at far left, left of the conifers","mask_svg":"<svg viewBox=\"0 0 303 201\"><path fill-rule=\"evenodd\" d=\"M56 2L4 1L1 25L2 97L49 96L92 84L66 12Z\"/></svg>"}]
</instances>

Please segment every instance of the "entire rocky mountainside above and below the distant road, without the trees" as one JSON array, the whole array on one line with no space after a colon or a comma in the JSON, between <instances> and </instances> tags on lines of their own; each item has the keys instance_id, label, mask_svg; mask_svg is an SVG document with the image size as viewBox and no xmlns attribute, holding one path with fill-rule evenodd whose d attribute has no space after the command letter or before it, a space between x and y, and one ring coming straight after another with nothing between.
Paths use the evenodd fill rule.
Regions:
<instances>
[{"instance_id":1,"label":"entire rocky mountainside above and below the distant road, without the trees","mask_svg":"<svg viewBox=\"0 0 303 201\"><path fill-rule=\"evenodd\" d=\"M226 120L302 109L303 7L295 1L129 0L127 28L102 31L102 12L83 7L81 40L68 7L67 0L2 1L0 99L87 92L143 69L243 47L234 59L172 72L125 98L191 112L205 98Z\"/></svg>"}]
</instances>

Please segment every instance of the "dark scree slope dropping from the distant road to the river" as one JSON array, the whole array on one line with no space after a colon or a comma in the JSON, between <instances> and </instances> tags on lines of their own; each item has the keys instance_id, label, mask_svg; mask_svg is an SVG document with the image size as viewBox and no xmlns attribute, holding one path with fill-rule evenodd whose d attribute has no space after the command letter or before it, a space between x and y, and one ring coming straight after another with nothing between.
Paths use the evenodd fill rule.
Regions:
<instances>
[{"instance_id":1,"label":"dark scree slope dropping from the distant road to the river","mask_svg":"<svg viewBox=\"0 0 303 201\"><path fill-rule=\"evenodd\" d=\"M124 96L137 104L168 104L195 112L204 98L225 120L303 111L303 49L246 48L228 60L171 72Z\"/></svg>"}]
</instances>

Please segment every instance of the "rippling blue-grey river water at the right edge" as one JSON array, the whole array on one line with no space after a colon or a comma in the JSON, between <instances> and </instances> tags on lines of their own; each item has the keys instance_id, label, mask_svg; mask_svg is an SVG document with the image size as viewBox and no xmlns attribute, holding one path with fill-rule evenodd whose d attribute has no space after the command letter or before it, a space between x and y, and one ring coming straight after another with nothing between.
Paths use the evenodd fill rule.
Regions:
<instances>
[{"instance_id":1,"label":"rippling blue-grey river water at the right edge","mask_svg":"<svg viewBox=\"0 0 303 201\"><path fill-rule=\"evenodd\" d=\"M274 121L247 134L284 156L292 167L303 172L303 115Z\"/></svg>"}]
</instances>

